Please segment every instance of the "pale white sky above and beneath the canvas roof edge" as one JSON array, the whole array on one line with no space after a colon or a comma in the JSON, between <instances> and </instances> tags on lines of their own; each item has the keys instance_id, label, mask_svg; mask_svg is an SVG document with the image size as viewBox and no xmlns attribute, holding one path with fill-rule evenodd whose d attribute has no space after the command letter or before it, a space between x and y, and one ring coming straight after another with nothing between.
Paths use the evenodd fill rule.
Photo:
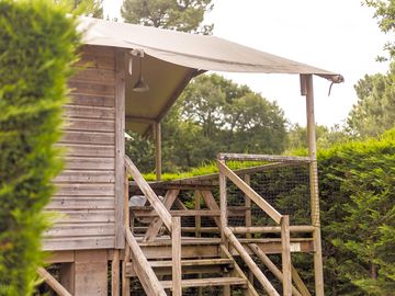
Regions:
<instances>
[{"instance_id":1,"label":"pale white sky above and beneath the canvas roof edge","mask_svg":"<svg viewBox=\"0 0 395 296\"><path fill-rule=\"evenodd\" d=\"M316 122L342 124L357 102L353 86L365 73L385 72L375 61L388 36L380 32L373 11L360 0L214 0L206 23L214 35L256 49L341 73L335 84L315 77ZM104 0L104 15L120 18L121 0ZM223 73L275 100L292 123L306 124L297 76Z\"/></svg>"}]
</instances>

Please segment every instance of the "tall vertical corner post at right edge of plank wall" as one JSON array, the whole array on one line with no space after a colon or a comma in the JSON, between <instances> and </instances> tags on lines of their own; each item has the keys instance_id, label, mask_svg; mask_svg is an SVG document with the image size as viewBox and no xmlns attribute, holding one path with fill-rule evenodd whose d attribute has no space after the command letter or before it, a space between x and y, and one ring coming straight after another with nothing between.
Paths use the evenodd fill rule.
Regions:
<instances>
[{"instance_id":1,"label":"tall vertical corner post at right edge of plank wall","mask_svg":"<svg viewBox=\"0 0 395 296\"><path fill-rule=\"evenodd\" d=\"M115 49L115 248L125 247L125 55Z\"/></svg>"}]
</instances>

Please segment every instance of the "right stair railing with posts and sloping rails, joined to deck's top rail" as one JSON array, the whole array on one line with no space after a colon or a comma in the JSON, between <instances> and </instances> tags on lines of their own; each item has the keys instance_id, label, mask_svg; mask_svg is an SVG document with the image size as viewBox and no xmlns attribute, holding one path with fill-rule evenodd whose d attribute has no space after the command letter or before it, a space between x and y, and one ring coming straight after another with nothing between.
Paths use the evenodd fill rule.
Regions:
<instances>
[{"instance_id":1,"label":"right stair railing with posts and sloping rails, joined to deck's top rail","mask_svg":"<svg viewBox=\"0 0 395 296\"><path fill-rule=\"evenodd\" d=\"M246 262L247 266L261 283L269 295L279 295L270 281L260 271L258 265L253 262L249 253L245 250L242 244L238 241L234 235L234 228L227 225L227 196L226 196L226 180L229 179L239 190L241 190L246 196L256 203L279 227L273 227L274 232L280 231L281 234L281 246L282 246L282 273L275 271L278 277L281 278L283 284L283 295L294 295L297 293L295 287L292 285L292 264L291 264L291 238L290 238L290 218L287 215L281 215L274 207L272 207L262 196L260 196L249 184L247 184L241 178L239 178L234 171L226 166L226 160L238 160L238 161L284 161L287 162L301 162L309 161L308 158L304 157L282 157L282 156L266 156L266 155L239 155L239 153L221 153L217 158L217 164L219 168L219 204L221 204L221 228L223 243L228 242L237 250L241 259ZM255 230L270 230L270 229L253 229L248 227L238 227L237 232L248 232ZM311 231L313 230L308 226L302 226L297 231ZM255 246L250 248L255 250ZM266 258L264 258L266 259ZM280 273L279 273L280 272Z\"/></svg>"}]
</instances>

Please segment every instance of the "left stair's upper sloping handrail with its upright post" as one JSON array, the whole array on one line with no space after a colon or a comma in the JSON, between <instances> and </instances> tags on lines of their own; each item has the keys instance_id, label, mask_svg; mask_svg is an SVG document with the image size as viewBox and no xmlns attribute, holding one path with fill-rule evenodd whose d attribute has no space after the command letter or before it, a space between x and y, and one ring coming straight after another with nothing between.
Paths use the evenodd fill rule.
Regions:
<instances>
[{"instance_id":1,"label":"left stair's upper sloping handrail with its upright post","mask_svg":"<svg viewBox=\"0 0 395 296\"><path fill-rule=\"evenodd\" d=\"M139 170L133 163L133 161L125 156L125 166L126 171L132 175L140 191L147 197L154 209L158 213L160 219L163 221L166 228L171 235L171 252L172 252L172 295L181 296L182 295L182 285L181 285L181 218L172 217L170 212L166 208L159 197L156 195L154 190L149 186L148 182L144 179ZM126 228L126 238L127 242L131 246L133 243L133 235L129 228ZM131 246L132 247L132 246ZM138 244L137 244L138 247ZM137 250L135 248L135 250ZM138 250L139 247L138 247ZM148 263L147 259L144 257L144 253L140 252L139 255L143 255L145 262ZM150 265L145 264L151 271ZM155 278L154 282L156 283ZM159 295L159 294L158 294ZM161 295L161 294L160 294Z\"/></svg>"}]
</instances>

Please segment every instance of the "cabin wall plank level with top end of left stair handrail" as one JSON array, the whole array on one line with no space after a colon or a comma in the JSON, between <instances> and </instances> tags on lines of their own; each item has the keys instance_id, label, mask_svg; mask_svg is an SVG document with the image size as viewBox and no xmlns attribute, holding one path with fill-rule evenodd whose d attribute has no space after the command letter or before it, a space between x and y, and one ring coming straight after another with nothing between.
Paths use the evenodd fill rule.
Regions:
<instances>
[{"instance_id":1,"label":"cabin wall plank level with top end of left stair handrail","mask_svg":"<svg viewBox=\"0 0 395 296\"><path fill-rule=\"evenodd\" d=\"M114 158L66 157L67 170L114 170Z\"/></svg>"}]
</instances>

